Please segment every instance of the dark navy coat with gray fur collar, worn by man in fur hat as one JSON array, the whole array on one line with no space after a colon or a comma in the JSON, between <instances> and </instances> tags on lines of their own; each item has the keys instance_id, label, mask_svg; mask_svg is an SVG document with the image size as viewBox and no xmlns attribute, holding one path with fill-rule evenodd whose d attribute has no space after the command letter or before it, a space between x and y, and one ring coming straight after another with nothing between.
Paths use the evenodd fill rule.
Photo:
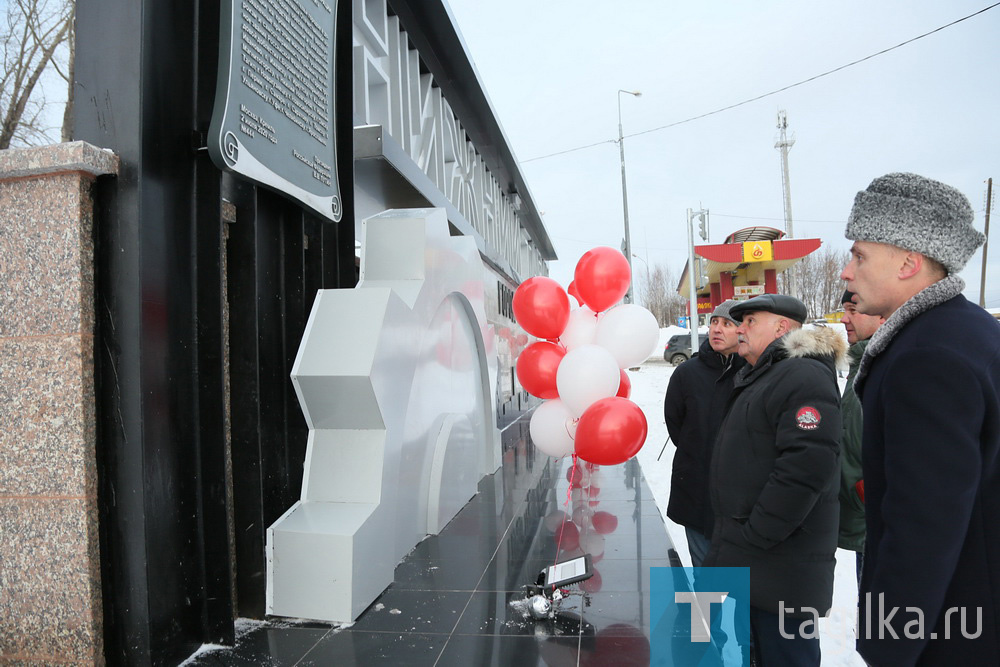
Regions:
<instances>
[{"instance_id":1,"label":"dark navy coat with gray fur collar, worn by man in fur hat","mask_svg":"<svg viewBox=\"0 0 1000 667\"><path fill-rule=\"evenodd\" d=\"M856 383L868 528L858 650L877 666L1000 665L1000 325L948 281L879 327ZM880 616L897 607L893 639Z\"/></svg>"}]
</instances>

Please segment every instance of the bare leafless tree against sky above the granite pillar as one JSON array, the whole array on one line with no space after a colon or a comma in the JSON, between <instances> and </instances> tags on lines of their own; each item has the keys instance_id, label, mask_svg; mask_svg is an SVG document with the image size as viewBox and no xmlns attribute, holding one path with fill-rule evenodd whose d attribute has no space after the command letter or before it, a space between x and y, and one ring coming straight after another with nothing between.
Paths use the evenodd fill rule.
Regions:
<instances>
[{"instance_id":1,"label":"bare leafless tree against sky above the granite pillar","mask_svg":"<svg viewBox=\"0 0 1000 667\"><path fill-rule=\"evenodd\" d=\"M50 143L52 103L40 85L47 71L72 81L73 0L8 0L0 28L0 149ZM72 116L72 109L68 111ZM64 113L63 126L66 131Z\"/></svg>"}]
</instances>

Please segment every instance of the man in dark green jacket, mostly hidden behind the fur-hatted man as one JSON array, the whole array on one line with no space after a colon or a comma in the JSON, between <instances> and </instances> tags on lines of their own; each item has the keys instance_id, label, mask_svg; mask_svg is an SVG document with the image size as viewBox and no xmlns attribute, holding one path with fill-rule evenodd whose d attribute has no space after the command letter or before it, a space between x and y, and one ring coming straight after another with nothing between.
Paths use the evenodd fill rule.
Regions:
<instances>
[{"instance_id":1,"label":"man in dark green jacket, mostly hidden behind the fur-hatted man","mask_svg":"<svg viewBox=\"0 0 1000 667\"><path fill-rule=\"evenodd\" d=\"M861 365L861 357L868 347L868 339L885 322L879 315L858 312L853 301L854 292L847 290L840 301L844 315L840 322L847 331L850 344L848 355L851 368L847 386L840 399L840 414L844 422L844 435L840 439L840 541L841 549L857 552L857 578L861 583L861 563L865 551L865 496L864 475L861 472L861 401L854 393L854 376Z\"/></svg>"}]
</instances>

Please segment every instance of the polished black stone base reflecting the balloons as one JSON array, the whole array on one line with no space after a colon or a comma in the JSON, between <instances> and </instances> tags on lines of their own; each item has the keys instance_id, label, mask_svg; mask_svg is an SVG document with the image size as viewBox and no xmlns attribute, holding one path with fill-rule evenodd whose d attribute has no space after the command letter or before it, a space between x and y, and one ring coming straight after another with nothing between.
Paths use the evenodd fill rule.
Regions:
<instances>
[{"instance_id":1,"label":"polished black stone base reflecting the balloons","mask_svg":"<svg viewBox=\"0 0 1000 667\"><path fill-rule=\"evenodd\" d=\"M672 551L635 459L553 460L522 419L504 431L500 470L353 625L253 623L236 647L188 664L648 665L649 569ZM594 576L564 589L554 618L526 616L524 586L583 553Z\"/></svg>"}]
</instances>

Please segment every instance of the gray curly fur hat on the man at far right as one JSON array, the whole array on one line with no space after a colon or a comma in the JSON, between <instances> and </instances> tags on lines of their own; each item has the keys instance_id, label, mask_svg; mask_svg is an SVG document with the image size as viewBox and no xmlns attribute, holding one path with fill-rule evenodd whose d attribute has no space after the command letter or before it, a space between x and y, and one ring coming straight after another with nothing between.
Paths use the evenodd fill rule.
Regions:
<instances>
[{"instance_id":1,"label":"gray curly fur hat on the man at far right","mask_svg":"<svg viewBox=\"0 0 1000 667\"><path fill-rule=\"evenodd\" d=\"M886 174L854 198L844 236L919 252L958 273L986 240L972 217L969 200L950 185L916 174Z\"/></svg>"}]
</instances>

